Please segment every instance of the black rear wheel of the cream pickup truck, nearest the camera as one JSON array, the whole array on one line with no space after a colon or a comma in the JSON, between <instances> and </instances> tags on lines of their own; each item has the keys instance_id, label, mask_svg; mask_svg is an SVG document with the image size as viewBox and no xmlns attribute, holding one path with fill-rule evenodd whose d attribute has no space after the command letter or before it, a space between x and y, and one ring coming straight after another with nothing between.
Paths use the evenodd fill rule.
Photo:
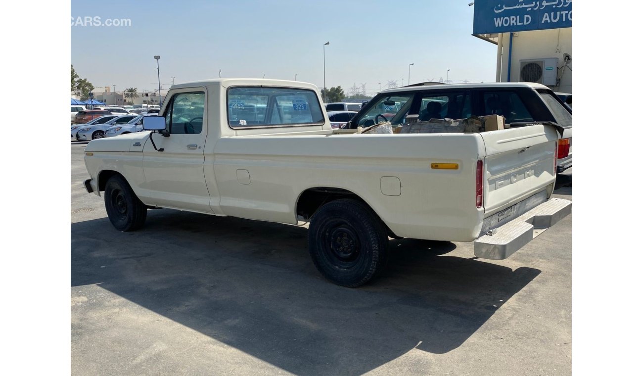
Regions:
<instances>
[{"instance_id":1,"label":"black rear wheel of the cream pickup truck, nearest the camera","mask_svg":"<svg viewBox=\"0 0 643 376\"><path fill-rule=\"evenodd\" d=\"M312 262L327 280L340 286L358 287L386 265L386 226L361 201L331 201L312 217L308 249Z\"/></svg>"}]
</instances>

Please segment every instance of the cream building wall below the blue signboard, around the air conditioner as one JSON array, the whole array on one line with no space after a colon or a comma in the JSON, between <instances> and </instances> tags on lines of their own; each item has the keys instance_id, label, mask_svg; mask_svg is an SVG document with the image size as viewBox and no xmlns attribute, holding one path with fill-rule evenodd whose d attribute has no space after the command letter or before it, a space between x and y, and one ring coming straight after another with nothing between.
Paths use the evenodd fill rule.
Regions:
<instances>
[{"instance_id":1,"label":"cream building wall below the blue signboard, around the air conditioner","mask_svg":"<svg viewBox=\"0 0 643 376\"><path fill-rule=\"evenodd\" d=\"M502 50L500 82L520 82L520 60L532 58L557 57L558 67L564 65L563 54L569 54L572 59L572 28L517 31L514 32L511 46L511 78L507 79L507 63L509 61L509 33L504 33L498 49ZM572 67L572 61L567 64ZM550 86L554 91L572 93L572 71L568 68L558 70L561 78L559 86Z\"/></svg>"}]
</instances>

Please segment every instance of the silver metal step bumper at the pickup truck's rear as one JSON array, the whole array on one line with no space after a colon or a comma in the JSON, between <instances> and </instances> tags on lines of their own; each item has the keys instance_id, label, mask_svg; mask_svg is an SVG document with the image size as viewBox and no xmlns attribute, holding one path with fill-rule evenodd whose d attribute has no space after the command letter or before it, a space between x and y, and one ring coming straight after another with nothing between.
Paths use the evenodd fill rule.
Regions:
<instances>
[{"instance_id":1,"label":"silver metal step bumper at the pickup truck's rear","mask_svg":"<svg viewBox=\"0 0 643 376\"><path fill-rule=\"evenodd\" d=\"M550 199L473 242L480 258L504 260L572 212L572 201Z\"/></svg>"}]
</instances>

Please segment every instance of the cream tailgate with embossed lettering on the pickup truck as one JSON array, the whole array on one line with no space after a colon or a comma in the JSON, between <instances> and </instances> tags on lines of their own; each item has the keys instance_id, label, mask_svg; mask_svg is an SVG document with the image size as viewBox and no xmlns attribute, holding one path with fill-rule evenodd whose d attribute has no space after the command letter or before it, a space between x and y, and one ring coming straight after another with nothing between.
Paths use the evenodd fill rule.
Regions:
<instances>
[{"instance_id":1,"label":"cream tailgate with embossed lettering on the pickup truck","mask_svg":"<svg viewBox=\"0 0 643 376\"><path fill-rule=\"evenodd\" d=\"M529 125L481 132L480 136L487 152L484 159L485 218L545 191L554 183L558 139L554 127ZM500 215L509 219L514 213L507 211L506 215Z\"/></svg>"}]
</instances>

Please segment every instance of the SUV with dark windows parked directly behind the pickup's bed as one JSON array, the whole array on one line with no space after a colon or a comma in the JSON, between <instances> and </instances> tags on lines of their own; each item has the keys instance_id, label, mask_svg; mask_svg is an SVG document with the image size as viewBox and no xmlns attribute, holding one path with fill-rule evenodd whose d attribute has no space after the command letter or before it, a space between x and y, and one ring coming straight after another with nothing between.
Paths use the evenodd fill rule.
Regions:
<instances>
[{"instance_id":1,"label":"SUV with dark windows parked directly behind the pickup's bed","mask_svg":"<svg viewBox=\"0 0 643 376\"><path fill-rule=\"evenodd\" d=\"M563 130L558 141L557 172L572 166L572 110L545 85L532 82L417 85L387 89L377 94L344 129L368 127L380 121L404 123L407 115L419 120L466 119L497 114L511 128L554 122ZM506 127L506 126L505 126Z\"/></svg>"}]
</instances>

